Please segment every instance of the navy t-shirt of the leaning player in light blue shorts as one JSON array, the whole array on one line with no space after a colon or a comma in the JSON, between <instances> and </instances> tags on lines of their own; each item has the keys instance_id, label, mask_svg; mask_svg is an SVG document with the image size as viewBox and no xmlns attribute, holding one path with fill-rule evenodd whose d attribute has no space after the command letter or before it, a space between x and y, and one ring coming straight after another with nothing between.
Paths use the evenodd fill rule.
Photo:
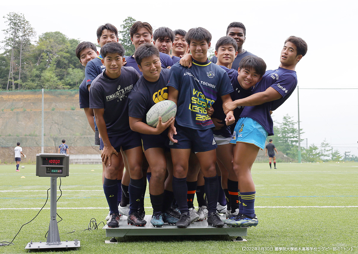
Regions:
<instances>
[{"instance_id":1,"label":"navy t-shirt of the leaning player in light blue shorts","mask_svg":"<svg viewBox=\"0 0 358 254\"><path fill-rule=\"evenodd\" d=\"M249 117L257 121L269 133L274 135L274 123L270 115L270 110L274 111L282 105L292 94L297 86L297 75L295 71L279 67L276 70L266 71L262 80L253 89L253 94L263 92L272 87L283 97L278 100L265 102L257 106L246 106L241 113L241 117Z\"/></svg>"}]
</instances>

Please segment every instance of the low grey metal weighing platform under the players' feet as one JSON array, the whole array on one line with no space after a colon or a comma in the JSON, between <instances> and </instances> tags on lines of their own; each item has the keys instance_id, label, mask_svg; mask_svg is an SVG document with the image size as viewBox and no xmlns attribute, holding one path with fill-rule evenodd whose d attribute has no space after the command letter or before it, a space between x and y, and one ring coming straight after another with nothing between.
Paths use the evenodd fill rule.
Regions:
<instances>
[{"instance_id":1,"label":"low grey metal weighing platform under the players' feet","mask_svg":"<svg viewBox=\"0 0 358 254\"><path fill-rule=\"evenodd\" d=\"M105 225L106 237L112 237L105 243L115 243L115 237L128 235L228 235L237 237L237 241L246 241L241 236L247 236L248 227L224 227L209 226L207 220L196 221L191 223L187 228L182 229L176 226L164 224L163 227L153 227L150 224L151 215L146 215L144 219L147 224L144 227L137 227L127 224L127 216L121 216L118 227L108 227Z\"/></svg>"}]
</instances>

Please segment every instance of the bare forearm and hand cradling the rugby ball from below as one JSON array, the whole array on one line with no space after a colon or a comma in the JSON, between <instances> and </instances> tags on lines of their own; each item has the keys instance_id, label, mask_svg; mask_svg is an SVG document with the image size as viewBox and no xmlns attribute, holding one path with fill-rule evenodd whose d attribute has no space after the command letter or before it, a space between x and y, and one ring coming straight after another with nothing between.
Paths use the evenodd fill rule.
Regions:
<instances>
[{"instance_id":1,"label":"bare forearm and hand cradling the rugby ball from below","mask_svg":"<svg viewBox=\"0 0 358 254\"><path fill-rule=\"evenodd\" d=\"M162 133L166 128L174 122L174 117L171 117L167 122L162 123L161 116L159 116L159 123L156 127L152 127L142 122L141 118L129 117L129 126L132 131L136 131L142 134L158 135Z\"/></svg>"}]
</instances>

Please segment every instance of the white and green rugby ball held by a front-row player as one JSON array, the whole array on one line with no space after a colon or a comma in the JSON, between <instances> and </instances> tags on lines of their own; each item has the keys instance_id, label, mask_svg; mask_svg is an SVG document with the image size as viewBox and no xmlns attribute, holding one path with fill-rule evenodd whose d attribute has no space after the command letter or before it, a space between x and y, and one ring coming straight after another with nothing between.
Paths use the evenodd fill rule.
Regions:
<instances>
[{"instance_id":1,"label":"white and green rugby ball held by a front-row player","mask_svg":"<svg viewBox=\"0 0 358 254\"><path fill-rule=\"evenodd\" d=\"M147 124L156 127L161 116L162 123L166 123L172 116L176 114L176 104L174 101L159 101L147 112Z\"/></svg>"}]
</instances>

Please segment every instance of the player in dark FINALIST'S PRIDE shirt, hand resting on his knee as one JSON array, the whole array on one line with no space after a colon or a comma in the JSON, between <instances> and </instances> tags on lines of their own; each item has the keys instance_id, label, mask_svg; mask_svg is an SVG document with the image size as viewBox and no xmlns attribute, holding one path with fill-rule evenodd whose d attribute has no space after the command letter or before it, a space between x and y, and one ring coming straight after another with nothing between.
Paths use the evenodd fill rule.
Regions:
<instances>
[{"instance_id":1,"label":"player in dark FINALIST'S PRIDE shirt, hand resting on his knee","mask_svg":"<svg viewBox=\"0 0 358 254\"><path fill-rule=\"evenodd\" d=\"M143 193L142 145L138 133L132 131L128 120L127 97L139 74L132 67L122 67L124 48L120 43L110 42L101 48L102 63L106 70L93 81L90 90L90 108L96 116L101 134L101 157L105 165L103 190L110 207L108 227L117 227L117 174L120 170L120 151L130 174L130 211L128 223L144 226L146 221L138 214Z\"/></svg>"}]
</instances>

